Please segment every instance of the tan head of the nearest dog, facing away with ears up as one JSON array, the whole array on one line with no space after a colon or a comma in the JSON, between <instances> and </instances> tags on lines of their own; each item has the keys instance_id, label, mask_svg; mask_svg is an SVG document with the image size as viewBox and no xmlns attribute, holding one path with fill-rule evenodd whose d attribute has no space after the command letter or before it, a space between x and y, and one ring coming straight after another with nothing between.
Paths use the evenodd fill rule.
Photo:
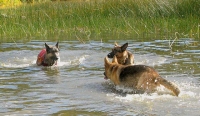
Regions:
<instances>
[{"instance_id":1,"label":"tan head of the nearest dog, facing away with ears up","mask_svg":"<svg viewBox=\"0 0 200 116\"><path fill-rule=\"evenodd\" d=\"M104 58L104 66L105 66L105 72L104 72L104 79L110 79L112 75L112 71L114 67L118 64L116 56L113 57L112 63L109 62L108 58Z\"/></svg>"}]
</instances>

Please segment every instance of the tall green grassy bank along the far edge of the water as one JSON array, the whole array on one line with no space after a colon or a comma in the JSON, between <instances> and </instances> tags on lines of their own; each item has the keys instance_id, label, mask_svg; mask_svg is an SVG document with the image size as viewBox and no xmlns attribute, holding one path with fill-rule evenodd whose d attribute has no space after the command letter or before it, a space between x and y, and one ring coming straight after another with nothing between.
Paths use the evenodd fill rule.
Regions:
<instances>
[{"instance_id":1,"label":"tall green grassy bank along the far edge of the water","mask_svg":"<svg viewBox=\"0 0 200 116\"><path fill-rule=\"evenodd\" d=\"M0 39L107 40L200 37L199 0L47 2L0 10Z\"/></svg>"}]
</instances>

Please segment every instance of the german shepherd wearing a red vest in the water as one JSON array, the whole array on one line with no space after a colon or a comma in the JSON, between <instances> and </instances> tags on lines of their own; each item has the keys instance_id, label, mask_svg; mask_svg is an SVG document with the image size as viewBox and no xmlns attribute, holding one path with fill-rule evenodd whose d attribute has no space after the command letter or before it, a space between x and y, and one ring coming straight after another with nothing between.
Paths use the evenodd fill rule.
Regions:
<instances>
[{"instance_id":1,"label":"german shepherd wearing a red vest in the water","mask_svg":"<svg viewBox=\"0 0 200 116\"><path fill-rule=\"evenodd\" d=\"M57 65L59 58L58 42L55 46L49 46L45 43L45 48L38 54L36 64L38 66Z\"/></svg>"}]
</instances>

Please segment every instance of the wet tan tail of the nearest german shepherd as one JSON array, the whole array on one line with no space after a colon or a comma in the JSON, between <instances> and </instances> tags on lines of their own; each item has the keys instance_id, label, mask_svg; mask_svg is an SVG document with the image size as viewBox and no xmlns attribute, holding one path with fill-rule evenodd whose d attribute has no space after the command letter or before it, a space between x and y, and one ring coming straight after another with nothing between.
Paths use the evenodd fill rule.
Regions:
<instances>
[{"instance_id":1,"label":"wet tan tail of the nearest german shepherd","mask_svg":"<svg viewBox=\"0 0 200 116\"><path fill-rule=\"evenodd\" d=\"M179 95L179 93L180 93L179 88L172 82L169 82L168 80L161 77L160 84L163 85L164 87L166 87L167 89L171 90L174 93L174 95L176 95L176 96Z\"/></svg>"}]
</instances>

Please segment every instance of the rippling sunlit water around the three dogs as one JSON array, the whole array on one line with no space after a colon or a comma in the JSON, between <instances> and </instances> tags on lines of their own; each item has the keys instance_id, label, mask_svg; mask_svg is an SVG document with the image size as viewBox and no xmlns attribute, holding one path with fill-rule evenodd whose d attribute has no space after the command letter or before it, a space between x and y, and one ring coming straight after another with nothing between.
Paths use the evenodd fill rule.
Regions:
<instances>
[{"instance_id":1,"label":"rippling sunlit water around the three dogs","mask_svg":"<svg viewBox=\"0 0 200 116\"><path fill-rule=\"evenodd\" d=\"M2 43L0 115L198 116L200 43L180 39L170 49L168 40L128 42L135 63L152 66L177 84L179 97L164 87L152 94L126 94L131 90L104 80L103 59L113 41L61 41L61 61L48 68L35 65L43 41Z\"/></svg>"}]
</instances>

